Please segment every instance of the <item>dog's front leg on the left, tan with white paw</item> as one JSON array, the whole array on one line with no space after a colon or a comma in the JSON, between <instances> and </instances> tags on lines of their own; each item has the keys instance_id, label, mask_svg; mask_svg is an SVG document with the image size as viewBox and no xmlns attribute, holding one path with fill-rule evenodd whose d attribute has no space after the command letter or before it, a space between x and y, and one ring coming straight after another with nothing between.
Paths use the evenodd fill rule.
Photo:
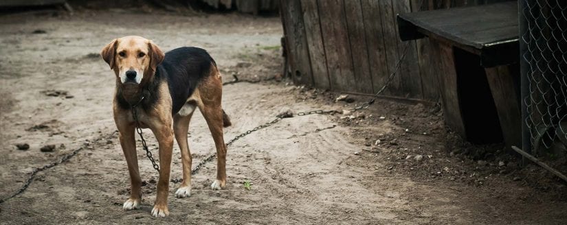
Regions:
<instances>
[{"instance_id":1,"label":"dog's front leg on the left, tan with white paw","mask_svg":"<svg viewBox=\"0 0 567 225\"><path fill-rule=\"evenodd\" d=\"M122 152L124 152L126 164L128 165L131 185L130 198L124 202L122 208L124 210L140 209L140 200L142 199L140 186L142 185L142 180L138 170L134 126L124 120L117 120L116 125L120 132L120 145L122 145Z\"/></svg>"}]
</instances>

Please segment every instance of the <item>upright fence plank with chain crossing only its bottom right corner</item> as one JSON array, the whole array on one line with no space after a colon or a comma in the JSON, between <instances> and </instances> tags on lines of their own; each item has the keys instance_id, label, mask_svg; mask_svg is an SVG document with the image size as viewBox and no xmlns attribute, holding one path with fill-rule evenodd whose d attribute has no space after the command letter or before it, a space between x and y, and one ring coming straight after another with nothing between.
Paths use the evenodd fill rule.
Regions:
<instances>
[{"instance_id":1,"label":"upright fence plank with chain crossing only its bottom right corner","mask_svg":"<svg viewBox=\"0 0 567 225\"><path fill-rule=\"evenodd\" d=\"M386 84L388 80L388 63L386 62L386 47L382 32L382 17L378 1L362 0L362 15L366 32L368 63L373 82L373 93ZM385 91L387 92L387 89Z\"/></svg>"}]
</instances>

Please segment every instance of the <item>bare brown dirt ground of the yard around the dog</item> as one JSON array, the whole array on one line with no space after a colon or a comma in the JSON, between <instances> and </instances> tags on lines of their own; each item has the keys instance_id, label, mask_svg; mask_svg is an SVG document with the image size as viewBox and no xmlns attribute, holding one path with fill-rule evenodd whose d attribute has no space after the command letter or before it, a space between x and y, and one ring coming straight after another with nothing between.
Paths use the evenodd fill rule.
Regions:
<instances>
[{"instance_id":1,"label":"bare brown dirt ground of the yard around the dog","mask_svg":"<svg viewBox=\"0 0 567 225\"><path fill-rule=\"evenodd\" d=\"M258 80L281 73L278 17L118 9L1 15L0 198L21 187L34 167L84 150L0 204L0 224L567 222L564 182L539 167L518 167L520 160L501 145L459 141L445 129L438 106L387 100L351 115L283 119L236 141L228 149L227 188L210 190L216 163L208 163L193 176L190 198L175 198L171 184L165 218L150 215L157 173L139 146L144 202L122 211L129 176L111 116L114 75L98 53L111 39L132 34L164 50L208 49L225 81L232 74ZM225 140L285 110L342 110L368 99L335 103L337 93L288 80L230 84L223 94L233 122ZM144 135L157 154L153 135ZM214 151L199 113L189 135L196 165ZM29 150L18 150L22 143ZM44 145L56 149L41 152ZM177 146L174 154L172 177L179 178Z\"/></svg>"}]
</instances>

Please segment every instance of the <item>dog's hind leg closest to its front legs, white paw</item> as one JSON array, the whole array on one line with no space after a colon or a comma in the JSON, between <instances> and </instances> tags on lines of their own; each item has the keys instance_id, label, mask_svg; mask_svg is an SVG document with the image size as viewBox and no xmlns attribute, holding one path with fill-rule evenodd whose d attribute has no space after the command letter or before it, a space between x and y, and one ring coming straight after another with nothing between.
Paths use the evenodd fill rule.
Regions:
<instances>
[{"instance_id":1,"label":"dog's hind leg closest to its front legs, white paw","mask_svg":"<svg viewBox=\"0 0 567 225\"><path fill-rule=\"evenodd\" d=\"M194 105L187 105L194 110ZM173 117L173 132L175 133L175 139L177 144L179 144L179 149L181 150L181 161L183 163L183 181L179 185L179 189L175 191L175 196L177 198L185 198L191 196L191 163L192 156L189 150L189 143L187 141L187 132L189 130L189 122L193 112L188 112L188 115L176 114Z\"/></svg>"}]
</instances>

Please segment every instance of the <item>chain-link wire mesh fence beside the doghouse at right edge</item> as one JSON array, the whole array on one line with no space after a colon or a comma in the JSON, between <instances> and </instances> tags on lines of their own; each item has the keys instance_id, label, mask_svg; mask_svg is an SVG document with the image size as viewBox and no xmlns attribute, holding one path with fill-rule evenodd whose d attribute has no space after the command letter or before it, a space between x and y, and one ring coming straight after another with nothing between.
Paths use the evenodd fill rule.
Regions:
<instances>
[{"instance_id":1,"label":"chain-link wire mesh fence beside the doghouse at right edge","mask_svg":"<svg viewBox=\"0 0 567 225\"><path fill-rule=\"evenodd\" d=\"M567 1L519 0L524 150L567 143Z\"/></svg>"}]
</instances>

